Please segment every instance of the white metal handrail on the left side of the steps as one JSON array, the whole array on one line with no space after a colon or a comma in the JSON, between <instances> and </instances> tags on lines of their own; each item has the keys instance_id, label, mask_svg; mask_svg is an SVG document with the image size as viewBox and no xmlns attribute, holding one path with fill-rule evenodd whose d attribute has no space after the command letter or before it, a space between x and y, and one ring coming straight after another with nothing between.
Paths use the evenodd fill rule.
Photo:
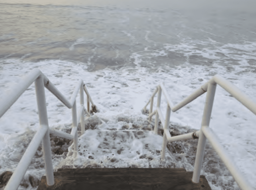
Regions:
<instances>
[{"instance_id":1,"label":"white metal handrail on the left side of the steps","mask_svg":"<svg viewBox=\"0 0 256 190\"><path fill-rule=\"evenodd\" d=\"M34 69L28 75L26 75L20 82L13 88L11 93L7 93L0 100L0 118L4 113L16 102L16 100L22 95L22 93L33 83L35 82L35 90L37 97L37 106L39 114L39 124L40 127L34 135L33 139L29 143L25 153L23 154L20 162L18 163L15 171L7 183L5 190L15 190L20 185L20 182L25 175L29 164L33 156L38 149L40 142L42 141L42 148L44 152L44 162L46 169L46 181L47 185L54 185L54 174L52 167L52 158L51 158L51 143L50 136L52 135L63 137L67 139L73 139L72 145L69 147L69 150L74 146L74 157L78 154L78 135L77 135L77 126L80 120L81 122L81 133L84 133L84 111L87 115L90 116L90 102L94 106L90 94L88 93L83 81L80 79L78 85L76 86L70 100L67 100L57 88L49 81L49 79L39 70ZM52 94L54 94L63 104L68 108L72 109L72 130L70 134L50 129L48 125L47 110L46 110L46 101L45 101L45 89L46 87ZM78 91L80 90L80 108L77 117L77 108L76 108L76 97ZM87 94L87 108L88 111L84 108L84 95L83 91ZM70 152L69 152L70 153Z\"/></svg>"}]
</instances>

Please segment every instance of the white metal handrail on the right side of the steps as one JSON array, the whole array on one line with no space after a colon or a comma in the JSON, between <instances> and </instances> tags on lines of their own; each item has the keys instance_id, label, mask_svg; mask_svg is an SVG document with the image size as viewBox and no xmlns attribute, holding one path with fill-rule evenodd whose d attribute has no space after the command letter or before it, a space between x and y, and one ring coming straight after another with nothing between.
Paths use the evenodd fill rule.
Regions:
<instances>
[{"instance_id":1,"label":"white metal handrail on the right side of the steps","mask_svg":"<svg viewBox=\"0 0 256 190\"><path fill-rule=\"evenodd\" d=\"M221 160L224 162L224 164L230 171L231 175L233 176L234 180L237 182L239 187L242 190L255 190L255 188L253 188L252 185L249 184L249 182L243 177L241 172L237 169L236 165L233 163L230 156L226 153L225 149L218 141L217 135L212 131L211 128L209 128L209 123L210 123L210 118L211 118L211 110L212 110L212 105L213 105L213 101L214 101L215 90L216 90L217 84L220 85L222 88L224 88L234 98L236 98L239 102L241 102L245 107L247 107L250 111L252 111L256 115L255 102L253 102L246 94L242 93L235 85L233 85L232 83L230 83L229 81L227 81L226 79L224 79L223 77L221 77L219 75L213 76L207 83L202 85L198 90L196 90L194 93L192 93L187 98L185 98L182 102L180 102L174 106L173 106L172 101L169 98L169 95L168 95L163 83L160 83L157 86L156 90L153 92L153 94L150 97L147 104L144 106L143 111L146 112L146 107L151 102L150 109L149 109L149 115L148 115L148 121L150 122L152 120L152 116L156 115L155 116L155 127L154 127L155 134L157 134L157 130L158 130L158 119L161 120L162 125L164 124L163 145L162 145L162 150L161 150L161 159L162 160L165 159L165 148L166 148L167 141L172 142L172 141L176 141L176 140L199 138L198 145L197 145L196 160L195 160L192 182L199 183L200 172L201 172L202 162L203 162L203 158L204 158L206 138L207 138L210 141L210 143L212 144L213 148L216 150L217 154L220 156ZM162 91L167 100L167 110L166 110L165 119L164 119L163 114L160 109ZM152 111L154 96L157 92L158 92L158 96L157 96L156 110ZM204 94L205 92L207 92L207 95L206 95L204 114L203 114L202 123L201 123L201 129L196 132L171 137L170 132L168 130L171 110L173 112L177 111L178 109L187 105L188 103L190 103L191 101L196 99L198 96Z\"/></svg>"}]
</instances>

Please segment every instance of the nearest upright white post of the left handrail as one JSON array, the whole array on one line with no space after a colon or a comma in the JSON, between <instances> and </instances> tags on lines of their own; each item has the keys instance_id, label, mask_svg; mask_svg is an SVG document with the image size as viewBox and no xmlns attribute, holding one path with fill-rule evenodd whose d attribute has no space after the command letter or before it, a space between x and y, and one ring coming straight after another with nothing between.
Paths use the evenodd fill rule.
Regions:
<instances>
[{"instance_id":1,"label":"nearest upright white post of the left handrail","mask_svg":"<svg viewBox=\"0 0 256 190\"><path fill-rule=\"evenodd\" d=\"M46 125L48 127L42 139L42 149L44 152L44 161L45 161L45 170L46 170L46 182L47 182L47 185L54 185L54 175L53 175L52 158L51 158L51 143L50 143L49 125L48 125L47 109L46 109L46 102L45 102L45 87L44 87L44 80L42 75L40 75L35 80L35 89L36 89L36 99L37 99L38 114L39 114L39 123L40 125Z\"/></svg>"}]
</instances>

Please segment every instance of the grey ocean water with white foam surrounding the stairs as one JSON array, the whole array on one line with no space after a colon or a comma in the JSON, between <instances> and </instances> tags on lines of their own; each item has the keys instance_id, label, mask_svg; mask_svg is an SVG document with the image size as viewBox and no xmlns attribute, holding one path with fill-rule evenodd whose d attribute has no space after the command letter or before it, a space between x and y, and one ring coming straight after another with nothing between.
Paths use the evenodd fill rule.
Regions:
<instances>
[{"instance_id":1,"label":"grey ocean water with white foam surrounding the stairs","mask_svg":"<svg viewBox=\"0 0 256 190\"><path fill-rule=\"evenodd\" d=\"M256 102L253 1L0 3L0 98L38 68L68 99L82 79L99 110L93 119L101 122L79 137L77 160L52 153L55 170L131 166L193 171L197 140L168 143L161 162L163 137L141 130L154 125L154 116L148 124L142 108L160 82L176 104L219 74ZM49 126L71 128L71 110L45 92ZM205 98L201 95L171 113L170 130L199 130ZM164 115L166 106L162 95ZM217 86L209 127L254 187L255 123L253 113ZM135 131L130 130L134 126ZM0 118L0 173L15 170L38 127L32 84ZM201 175L213 190L239 189L208 144ZM27 185L18 189L36 189L29 183L30 175L38 180L45 175L40 149L24 176L22 183Z\"/></svg>"}]
</instances>

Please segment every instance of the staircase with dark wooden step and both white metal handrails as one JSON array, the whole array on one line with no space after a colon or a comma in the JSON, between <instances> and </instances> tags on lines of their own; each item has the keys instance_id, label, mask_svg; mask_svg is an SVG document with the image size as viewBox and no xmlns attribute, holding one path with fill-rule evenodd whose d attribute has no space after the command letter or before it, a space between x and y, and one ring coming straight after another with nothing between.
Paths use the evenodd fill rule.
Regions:
<instances>
[{"instance_id":1,"label":"staircase with dark wooden step and both white metal handrails","mask_svg":"<svg viewBox=\"0 0 256 190\"><path fill-rule=\"evenodd\" d=\"M70 100L67 100L57 88L49 81L49 79L38 69L33 70L26 77L15 86L13 92L10 92L0 100L0 117L16 102L20 95L35 82L35 90L37 97L37 106L39 114L39 124L37 132L27 147L23 157L19 161L13 174L11 174L5 190L18 189L27 169L31 163L33 156L35 155L40 143L42 142L44 162L46 175L42 176L38 190L82 190L82 189L172 189L172 190L192 190L192 189L204 189L210 190L210 186L205 176L200 175L202 168L202 161L204 158L204 150L206 145L206 139L209 140L212 147L220 156L223 163L227 166L234 180L237 182L242 190L255 190L243 177L241 172L237 169L236 165L232 162L230 156L226 153L225 149L218 142L217 135L209 128L209 122L211 118L211 110L216 90L216 85L220 85L226 91L228 91L234 98L239 100L244 106L256 114L256 104L242 93L236 86L232 85L229 81L225 80L221 76L215 75L207 83L202 85L198 90L189 95L179 104L173 106L168 93L161 83L156 87L156 90L152 94L150 100L143 108L143 112L148 114L148 122L152 121L152 116L155 115L154 133L158 134L158 121L161 121L163 125L163 144L161 151L161 160L165 160L166 145L168 142L188 139L198 139L198 146L196 151L196 159L193 172L187 172L183 168L61 168L57 172L54 172L51 157L51 142L50 134L53 136L66 138L73 140L69 150L73 148L73 158L77 158L78 155L78 123L80 122L81 134L85 132L85 114L90 117L90 113L95 110L95 104L90 97L86 86L82 80L79 80ZM69 133L61 130L49 128L45 89L47 88L52 94L54 94L64 105L72 109L72 130ZM80 91L80 106L76 107L76 96ZM84 94L87 95L87 110L84 107ZM164 117L160 109L161 94L164 94L167 100L166 116ZM169 131L170 112L177 111L189 102L196 99L198 96L207 92L206 103L204 108L204 114L202 118L202 127L199 131L190 132L182 135L173 135ZM153 100L155 94L157 95L157 105L155 111L153 111ZM90 110L90 103L92 104L92 110ZM147 105L150 104L150 109L147 110ZM77 111L78 110L78 111ZM78 112L78 114L77 114ZM171 136L171 134L173 136ZM154 139L152 139L154 140ZM70 152L69 152L70 153ZM68 153L67 156L70 156ZM5 181L6 178L4 179Z\"/></svg>"}]
</instances>

